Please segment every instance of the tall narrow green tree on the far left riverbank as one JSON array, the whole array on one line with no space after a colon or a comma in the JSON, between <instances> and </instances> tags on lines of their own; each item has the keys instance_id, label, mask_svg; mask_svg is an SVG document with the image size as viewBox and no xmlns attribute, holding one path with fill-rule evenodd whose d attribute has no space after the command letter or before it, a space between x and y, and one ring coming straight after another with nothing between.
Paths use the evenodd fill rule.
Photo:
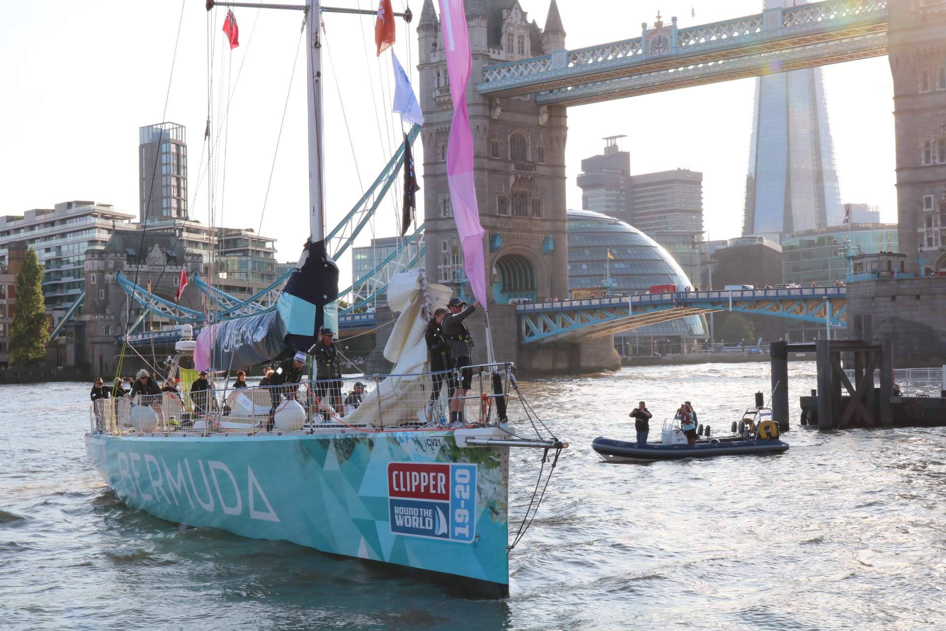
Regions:
<instances>
[{"instance_id":1,"label":"tall narrow green tree on the far left riverbank","mask_svg":"<svg viewBox=\"0 0 946 631\"><path fill-rule=\"evenodd\" d=\"M9 324L9 358L14 365L33 366L46 356L49 321L43 300L43 267L32 248L16 274L15 305Z\"/></svg>"}]
</instances>

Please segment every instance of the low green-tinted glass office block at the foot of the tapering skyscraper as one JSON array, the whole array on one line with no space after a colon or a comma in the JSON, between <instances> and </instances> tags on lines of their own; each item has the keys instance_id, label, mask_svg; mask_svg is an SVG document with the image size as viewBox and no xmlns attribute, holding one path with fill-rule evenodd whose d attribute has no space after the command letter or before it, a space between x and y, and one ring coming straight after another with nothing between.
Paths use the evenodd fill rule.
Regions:
<instances>
[{"instance_id":1,"label":"low green-tinted glass office block at the foot of the tapering skyscraper","mask_svg":"<svg viewBox=\"0 0 946 631\"><path fill-rule=\"evenodd\" d=\"M854 254L897 252L897 224L851 223L788 235L781 242L782 282L803 286L843 282L848 260L840 254L848 240L858 248Z\"/></svg>"}]
</instances>

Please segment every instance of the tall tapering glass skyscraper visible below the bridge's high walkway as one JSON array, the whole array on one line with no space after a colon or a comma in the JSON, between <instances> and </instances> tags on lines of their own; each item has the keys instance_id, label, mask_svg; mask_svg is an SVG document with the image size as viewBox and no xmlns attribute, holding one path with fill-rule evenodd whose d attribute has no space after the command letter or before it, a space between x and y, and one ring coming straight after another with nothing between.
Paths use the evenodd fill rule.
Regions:
<instances>
[{"instance_id":1,"label":"tall tapering glass skyscraper visible below the bridge's high walkway","mask_svg":"<svg viewBox=\"0 0 946 631\"><path fill-rule=\"evenodd\" d=\"M780 243L843 220L821 69L756 79L743 235Z\"/></svg>"}]
</instances>

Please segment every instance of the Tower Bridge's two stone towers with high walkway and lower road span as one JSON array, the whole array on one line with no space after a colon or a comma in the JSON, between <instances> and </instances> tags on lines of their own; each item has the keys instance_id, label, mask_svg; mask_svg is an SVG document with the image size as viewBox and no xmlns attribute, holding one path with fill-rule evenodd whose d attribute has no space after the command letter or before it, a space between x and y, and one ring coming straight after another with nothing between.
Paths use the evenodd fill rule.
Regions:
<instances>
[{"instance_id":1,"label":"Tower Bridge's two stone towers with high walkway and lower road span","mask_svg":"<svg viewBox=\"0 0 946 631\"><path fill-rule=\"evenodd\" d=\"M792 6L792 0L764 0L762 4L764 9L755 15L687 28L678 27L675 18L667 23L658 18L653 25L642 25L639 37L569 50L554 0L544 27L529 18L519 0L466 0L471 82L476 84L466 96L474 141L474 182L480 220L487 232L483 239L487 275L491 275L487 292L502 307L490 307L494 338L502 332L503 339L510 341L571 343L580 348L569 357L586 368L590 367L586 356L604 357L605 344L590 342L605 342L608 335L639 326L645 319L729 308L728 298L725 307L709 298L682 303L674 299L640 307L643 310L626 307L630 310L612 313L612 322L603 326L594 322L610 318L604 310L579 313L581 309L565 306L572 301L561 301L562 307L551 311L502 305L516 297L507 288L539 300L569 295L565 202L569 107L841 61L888 56L894 79L901 249L929 250L931 254L924 256L939 257L933 267L946 269L946 242L940 238L946 201L936 202L946 184L946 149L938 149L946 148L946 132L940 127L946 118L946 79L939 79L946 77L946 49L941 44L946 40L946 2L802 4L799 0ZM420 139L425 267L431 281L467 295L462 273L458 273L462 255L445 163L453 104L439 18L431 0L424 2L417 31L419 99L426 118ZM942 228L946 230L946 225ZM946 239L946 233L942 238ZM909 263L905 272L920 271ZM806 299L799 307L786 297L769 303L746 300L745 305L733 308L779 311L780 317L827 318L830 324L844 325L840 299L818 302L821 307L815 302L814 297ZM832 308L828 315L823 312L826 305ZM822 309L820 315L817 308ZM571 324L569 314L575 318ZM599 333L603 337L591 337ZM482 334L474 331L478 339ZM474 353L482 352L482 344L474 349ZM618 363L616 354L611 362ZM599 363L604 366L607 359Z\"/></svg>"}]
</instances>

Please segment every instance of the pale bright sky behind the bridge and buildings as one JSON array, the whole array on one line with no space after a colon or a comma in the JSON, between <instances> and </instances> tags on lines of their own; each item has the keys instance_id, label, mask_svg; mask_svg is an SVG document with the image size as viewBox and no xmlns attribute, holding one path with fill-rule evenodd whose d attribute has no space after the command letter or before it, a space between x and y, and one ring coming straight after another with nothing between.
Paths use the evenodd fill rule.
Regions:
<instances>
[{"instance_id":1,"label":"pale bright sky behind the bridge and buildings","mask_svg":"<svg viewBox=\"0 0 946 631\"><path fill-rule=\"evenodd\" d=\"M520 0L539 26L548 0ZM373 0L336 0L375 9ZM224 9L204 0L8 3L0 23L0 214L22 215L70 200L95 200L138 215L138 128L163 120L187 128L191 215L208 220L208 108L217 138L216 223L278 239L295 260L307 237L305 51L302 14L235 9L240 46L220 32ZM409 6L393 0L394 10ZM642 22L678 16L681 27L758 13L761 0L559 0L569 49L639 37ZM422 3L410 8L419 16ZM593 10L589 8L593 7ZM692 17L695 13L695 17ZM368 16L324 14L326 224L358 200L400 142L390 114L390 53L378 59ZM394 52L416 86L416 17L398 20ZM180 30L179 30L180 29ZM210 44L208 44L208 39ZM173 68L173 70L172 70ZM208 75L212 96L208 98ZM824 67L842 202L879 204L896 221L893 88L887 59ZM583 158L604 136L627 134L632 173L676 167L703 172L708 237L740 234L756 79L569 108L569 208ZM201 158L202 155L202 158ZM398 195L389 195L359 237L393 236ZM423 195L418 196L423 200ZM339 261L350 279L351 257Z\"/></svg>"}]
</instances>

